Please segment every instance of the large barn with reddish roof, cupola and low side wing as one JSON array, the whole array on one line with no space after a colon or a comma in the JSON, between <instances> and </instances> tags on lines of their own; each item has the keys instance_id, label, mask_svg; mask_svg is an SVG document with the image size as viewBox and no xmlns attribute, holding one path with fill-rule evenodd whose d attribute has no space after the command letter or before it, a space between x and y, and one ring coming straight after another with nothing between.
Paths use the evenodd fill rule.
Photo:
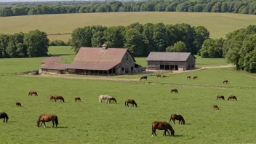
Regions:
<instances>
[{"instance_id":1,"label":"large barn with reddish roof, cupola and low side wing","mask_svg":"<svg viewBox=\"0 0 256 144\"><path fill-rule=\"evenodd\" d=\"M141 71L135 64L135 58L126 48L81 47L73 63L49 63L41 66L44 71L55 69L57 73L89 75L120 75Z\"/></svg>"}]
</instances>

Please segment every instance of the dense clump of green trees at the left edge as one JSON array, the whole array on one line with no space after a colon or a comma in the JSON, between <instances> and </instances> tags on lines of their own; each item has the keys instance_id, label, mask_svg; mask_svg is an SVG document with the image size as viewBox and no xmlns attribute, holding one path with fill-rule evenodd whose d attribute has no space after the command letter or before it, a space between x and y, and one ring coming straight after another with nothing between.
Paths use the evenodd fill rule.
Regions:
<instances>
[{"instance_id":1,"label":"dense clump of green trees at the left edge","mask_svg":"<svg viewBox=\"0 0 256 144\"><path fill-rule=\"evenodd\" d=\"M42 31L0 34L0 58L47 56L49 39Z\"/></svg>"}]
</instances>

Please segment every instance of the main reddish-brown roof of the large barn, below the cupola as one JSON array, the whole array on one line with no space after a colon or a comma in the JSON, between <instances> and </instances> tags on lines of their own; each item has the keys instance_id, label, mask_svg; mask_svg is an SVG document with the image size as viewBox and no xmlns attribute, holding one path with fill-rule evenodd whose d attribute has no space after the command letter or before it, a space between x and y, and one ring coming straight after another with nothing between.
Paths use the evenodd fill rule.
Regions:
<instances>
[{"instance_id":1,"label":"main reddish-brown roof of the large barn, below the cupola","mask_svg":"<svg viewBox=\"0 0 256 144\"><path fill-rule=\"evenodd\" d=\"M67 65L67 68L109 70L121 63L127 51L129 52L126 48L102 49L98 47L81 47L73 63ZM135 58L132 58L135 61Z\"/></svg>"}]
</instances>

